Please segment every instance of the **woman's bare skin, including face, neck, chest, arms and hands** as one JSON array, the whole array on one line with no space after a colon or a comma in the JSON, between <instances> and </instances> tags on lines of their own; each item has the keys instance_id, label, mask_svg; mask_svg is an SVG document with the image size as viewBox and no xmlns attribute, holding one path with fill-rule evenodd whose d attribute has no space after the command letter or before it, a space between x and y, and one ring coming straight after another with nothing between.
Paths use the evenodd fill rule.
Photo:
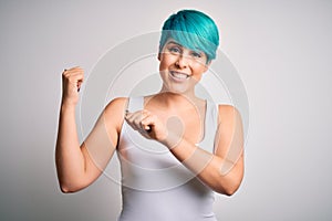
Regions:
<instances>
[{"instance_id":1,"label":"woman's bare skin, including face, neck, chest, arms and hands","mask_svg":"<svg viewBox=\"0 0 332 221\"><path fill-rule=\"evenodd\" d=\"M61 190L75 192L91 185L116 150L124 120L148 139L165 145L188 169L216 192L231 196L243 177L243 133L239 112L219 105L215 152L198 144L204 138L206 101L195 95L195 85L210 62L204 52L186 49L169 39L158 55L163 87L144 98L144 109L125 112L127 98L113 99L103 110L91 134L79 144L75 106L84 72L63 72L55 164Z\"/></svg>"}]
</instances>

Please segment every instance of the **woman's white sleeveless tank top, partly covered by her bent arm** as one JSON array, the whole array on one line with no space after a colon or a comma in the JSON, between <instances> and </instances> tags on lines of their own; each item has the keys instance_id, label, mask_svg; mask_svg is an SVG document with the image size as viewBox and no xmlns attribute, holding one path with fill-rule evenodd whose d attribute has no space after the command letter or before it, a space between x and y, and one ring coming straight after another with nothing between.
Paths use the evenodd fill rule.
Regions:
<instances>
[{"instance_id":1,"label":"woman's white sleeveless tank top, partly covered by her bent arm","mask_svg":"<svg viewBox=\"0 0 332 221\"><path fill-rule=\"evenodd\" d=\"M144 108L144 97L131 97L128 110ZM217 105L207 101L200 148L214 152ZM214 191L164 145L143 137L123 123L117 146L123 208L118 221L217 221Z\"/></svg>"}]
</instances>

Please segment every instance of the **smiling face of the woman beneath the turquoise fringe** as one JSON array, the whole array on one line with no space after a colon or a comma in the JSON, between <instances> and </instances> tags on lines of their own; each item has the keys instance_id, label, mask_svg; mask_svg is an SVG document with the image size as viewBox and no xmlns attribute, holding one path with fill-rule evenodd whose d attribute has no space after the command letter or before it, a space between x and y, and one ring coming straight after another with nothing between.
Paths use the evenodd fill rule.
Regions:
<instances>
[{"instance_id":1,"label":"smiling face of the woman beneath the turquoise fringe","mask_svg":"<svg viewBox=\"0 0 332 221\"><path fill-rule=\"evenodd\" d=\"M207 71L207 56L204 52L184 48L169 39L158 55L163 91L173 93L194 92L195 85Z\"/></svg>"}]
</instances>

